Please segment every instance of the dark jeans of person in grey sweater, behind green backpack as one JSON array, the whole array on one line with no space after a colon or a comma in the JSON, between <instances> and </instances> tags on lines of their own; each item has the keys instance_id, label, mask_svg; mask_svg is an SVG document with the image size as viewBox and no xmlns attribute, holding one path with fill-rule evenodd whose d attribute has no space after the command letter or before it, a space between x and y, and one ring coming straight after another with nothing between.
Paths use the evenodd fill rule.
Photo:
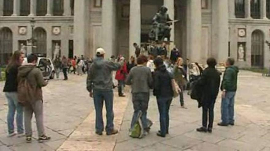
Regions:
<instances>
[{"instance_id":1,"label":"dark jeans of person in grey sweater, behind green backpack","mask_svg":"<svg viewBox=\"0 0 270 151\"><path fill-rule=\"evenodd\" d=\"M143 128L148 128L147 124L147 109L148 109L148 102L149 102L149 93L133 93L132 94L132 102L133 102L133 117L130 124L130 128L133 128L133 126L136 124L137 117L139 112L142 112L141 115L141 122L143 125Z\"/></svg>"}]
</instances>

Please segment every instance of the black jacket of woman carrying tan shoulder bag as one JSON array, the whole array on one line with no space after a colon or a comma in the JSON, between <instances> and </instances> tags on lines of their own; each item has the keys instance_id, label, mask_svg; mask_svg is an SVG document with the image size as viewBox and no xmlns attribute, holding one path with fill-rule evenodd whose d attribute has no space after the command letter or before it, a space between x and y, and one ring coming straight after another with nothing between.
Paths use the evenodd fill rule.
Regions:
<instances>
[{"instance_id":1,"label":"black jacket of woman carrying tan shoulder bag","mask_svg":"<svg viewBox=\"0 0 270 151\"><path fill-rule=\"evenodd\" d=\"M154 72L154 95L157 97L173 97L172 79L173 75L167 71L165 65L157 68Z\"/></svg>"}]
</instances>

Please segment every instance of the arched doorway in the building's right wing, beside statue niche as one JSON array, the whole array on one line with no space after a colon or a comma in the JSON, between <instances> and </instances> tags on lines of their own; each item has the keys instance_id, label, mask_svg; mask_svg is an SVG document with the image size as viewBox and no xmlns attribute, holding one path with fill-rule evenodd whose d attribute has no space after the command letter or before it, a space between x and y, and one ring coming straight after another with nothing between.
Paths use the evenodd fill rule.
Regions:
<instances>
[{"instance_id":1,"label":"arched doorway in the building's right wing, beside statue niche","mask_svg":"<svg viewBox=\"0 0 270 151\"><path fill-rule=\"evenodd\" d=\"M251 66L264 67L264 34L255 30L251 37Z\"/></svg>"}]
</instances>

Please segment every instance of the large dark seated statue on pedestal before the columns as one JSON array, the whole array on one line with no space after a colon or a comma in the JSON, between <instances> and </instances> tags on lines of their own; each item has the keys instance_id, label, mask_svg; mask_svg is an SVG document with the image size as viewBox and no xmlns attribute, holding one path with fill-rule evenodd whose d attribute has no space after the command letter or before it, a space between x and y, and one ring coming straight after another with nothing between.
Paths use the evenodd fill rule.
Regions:
<instances>
[{"instance_id":1,"label":"large dark seated statue on pedestal before the columns","mask_svg":"<svg viewBox=\"0 0 270 151\"><path fill-rule=\"evenodd\" d=\"M164 41L167 38L170 41L171 30L173 20L170 19L168 9L165 6L161 6L160 10L152 19L152 29L149 33L150 40Z\"/></svg>"}]
</instances>

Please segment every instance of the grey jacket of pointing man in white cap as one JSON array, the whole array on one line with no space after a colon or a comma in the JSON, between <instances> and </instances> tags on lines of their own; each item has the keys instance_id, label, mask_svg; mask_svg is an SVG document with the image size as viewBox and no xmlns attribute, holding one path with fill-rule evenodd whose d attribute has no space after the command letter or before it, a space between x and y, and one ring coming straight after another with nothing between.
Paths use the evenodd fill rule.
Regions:
<instances>
[{"instance_id":1,"label":"grey jacket of pointing man in white cap","mask_svg":"<svg viewBox=\"0 0 270 151\"><path fill-rule=\"evenodd\" d=\"M102 57L97 57L89 68L87 75L87 90L111 91L113 89L112 71L121 68L120 63L106 61Z\"/></svg>"}]
</instances>

